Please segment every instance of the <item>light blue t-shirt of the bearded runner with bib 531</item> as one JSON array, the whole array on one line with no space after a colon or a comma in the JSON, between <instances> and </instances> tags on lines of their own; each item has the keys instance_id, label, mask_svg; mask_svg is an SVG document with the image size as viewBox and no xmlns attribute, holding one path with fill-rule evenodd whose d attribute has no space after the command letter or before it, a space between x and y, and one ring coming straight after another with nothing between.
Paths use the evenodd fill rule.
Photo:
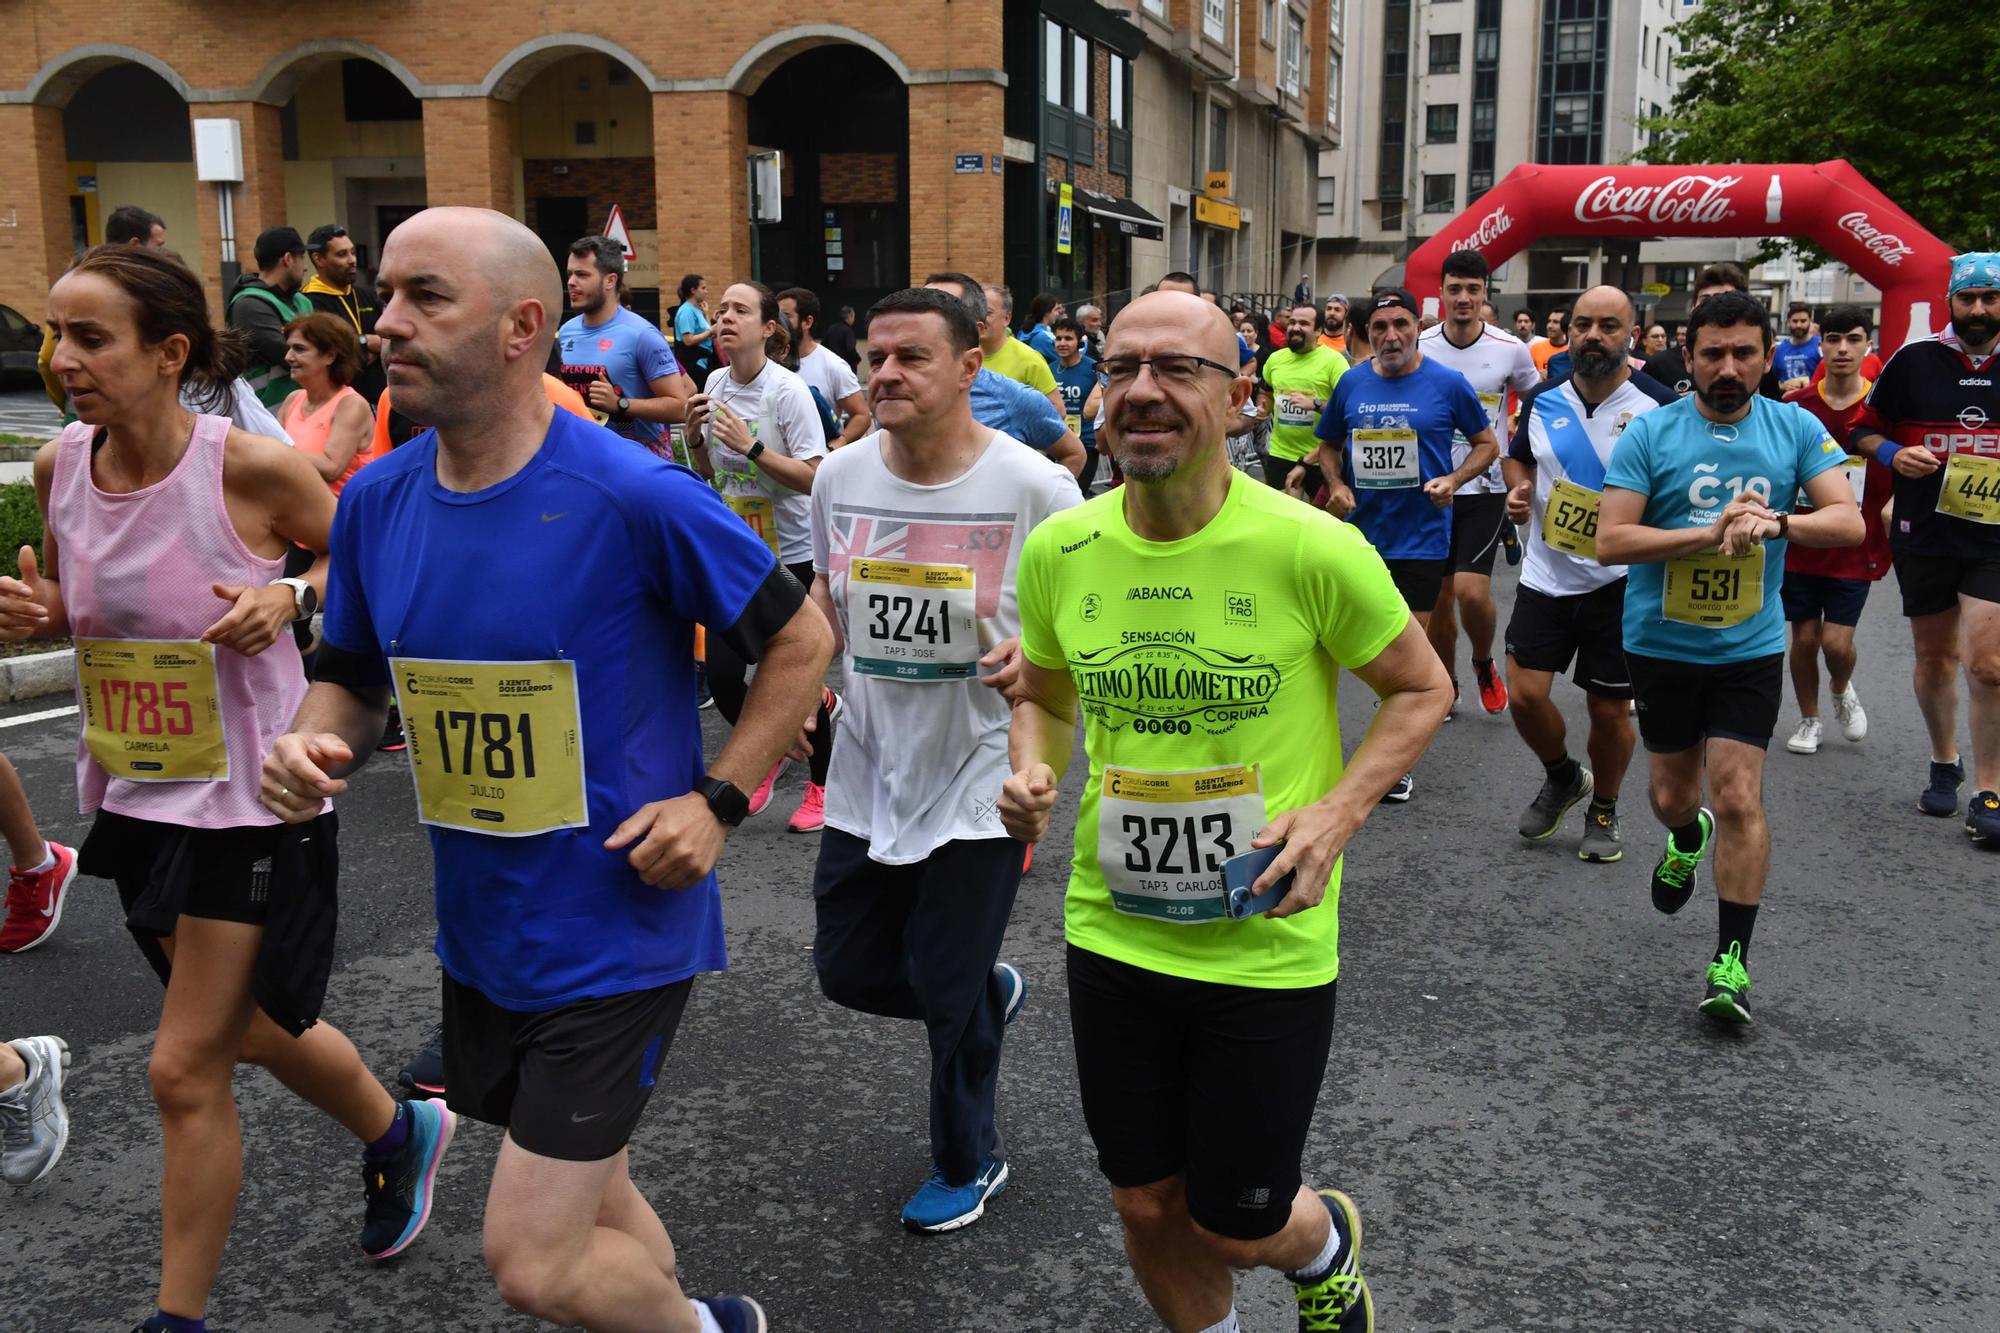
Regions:
<instances>
[{"instance_id":1,"label":"light blue t-shirt of the bearded runner with bib 531","mask_svg":"<svg viewBox=\"0 0 2000 1333\"><path fill-rule=\"evenodd\" d=\"M1696 398L1680 398L1632 418L1604 470L1604 488L1646 496L1648 528L1706 528L1744 490L1762 490L1772 508L1792 508L1798 488L1848 456L1826 426L1794 402L1756 396L1734 426L1710 422ZM1668 620L1666 564L1632 564L1626 582L1626 652L1680 662L1742 662L1784 652L1784 548L1764 542L1764 606L1742 624Z\"/></svg>"}]
</instances>

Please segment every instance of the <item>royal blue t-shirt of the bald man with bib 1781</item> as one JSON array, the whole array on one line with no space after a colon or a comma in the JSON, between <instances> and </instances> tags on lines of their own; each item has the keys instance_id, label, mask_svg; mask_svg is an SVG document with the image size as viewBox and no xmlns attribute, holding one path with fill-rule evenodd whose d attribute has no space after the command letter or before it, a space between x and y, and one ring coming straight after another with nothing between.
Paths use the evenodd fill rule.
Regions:
<instances>
[{"instance_id":1,"label":"royal blue t-shirt of the bald man with bib 1781","mask_svg":"<svg viewBox=\"0 0 2000 1333\"><path fill-rule=\"evenodd\" d=\"M722 969L714 875L652 889L630 849L604 839L704 775L694 626L736 624L776 556L700 476L570 412L486 490L446 490L436 454L426 430L342 490L326 642L376 658L576 662L590 819L530 837L430 827L438 961L518 1011ZM548 578L570 592L530 592Z\"/></svg>"}]
</instances>

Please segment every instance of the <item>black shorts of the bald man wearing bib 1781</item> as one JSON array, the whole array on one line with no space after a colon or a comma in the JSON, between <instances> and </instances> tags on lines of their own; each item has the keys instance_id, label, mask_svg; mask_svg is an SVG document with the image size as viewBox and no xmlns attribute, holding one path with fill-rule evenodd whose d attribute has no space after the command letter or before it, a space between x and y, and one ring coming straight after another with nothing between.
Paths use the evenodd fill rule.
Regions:
<instances>
[{"instance_id":1,"label":"black shorts of the bald man wearing bib 1781","mask_svg":"<svg viewBox=\"0 0 2000 1333\"><path fill-rule=\"evenodd\" d=\"M632 1139L694 979L520 1013L444 977L452 1111L540 1157L604 1161Z\"/></svg>"}]
</instances>

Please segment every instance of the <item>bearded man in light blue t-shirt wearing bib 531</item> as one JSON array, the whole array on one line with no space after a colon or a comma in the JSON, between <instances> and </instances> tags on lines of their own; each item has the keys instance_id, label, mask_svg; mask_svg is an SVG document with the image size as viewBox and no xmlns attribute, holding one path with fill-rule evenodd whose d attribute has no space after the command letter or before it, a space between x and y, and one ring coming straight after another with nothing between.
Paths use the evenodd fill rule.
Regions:
<instances>
[{"instance_id":1,"label":"bearded man in light blue t-shirt wearing bib 531","mask_svg":"<svg viewBox=\"0 0 2000 1333\"><path fill-rule=\"evenodd\" d=\"M1750 931L1770 869L1764 749L1784 687L1784 546L1852 546L1862 514L1842 450L1808 412L1762 400L1770 316L1742 292L1688 318L1694 398L1638 416L1612 450L1598 560L1628 564L1626 666L1668 829L1652 905L1678 913L1716 851L1716 955L1702 1013L1750 1021ZM1810 514L1774 510L1804 490ZM1702 805L1702 785L1714 809Z\"/></svg>"}]
</instances>

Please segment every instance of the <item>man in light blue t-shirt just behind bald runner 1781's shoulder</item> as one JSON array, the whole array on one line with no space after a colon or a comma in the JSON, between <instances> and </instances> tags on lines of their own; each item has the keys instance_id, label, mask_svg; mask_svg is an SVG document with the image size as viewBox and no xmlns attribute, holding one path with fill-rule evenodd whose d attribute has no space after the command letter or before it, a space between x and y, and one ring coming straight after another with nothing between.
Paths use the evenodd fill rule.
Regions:
<instances>
[{"instance_id":1,"label":"man in light blue t-shirt just behind bald runner 1781's shoulder","mask_svg":"<svg viewBox=\"0 0 2000 1333\"><path fill-rule=\"evenodd\" d=\"M694 384L648 320L618 304L624 248L610 236L570 242L566 292L576 318L556 332L562 382L628 440L672 456L668 424L686 420Z\"/></svg>"}]
</instances>

